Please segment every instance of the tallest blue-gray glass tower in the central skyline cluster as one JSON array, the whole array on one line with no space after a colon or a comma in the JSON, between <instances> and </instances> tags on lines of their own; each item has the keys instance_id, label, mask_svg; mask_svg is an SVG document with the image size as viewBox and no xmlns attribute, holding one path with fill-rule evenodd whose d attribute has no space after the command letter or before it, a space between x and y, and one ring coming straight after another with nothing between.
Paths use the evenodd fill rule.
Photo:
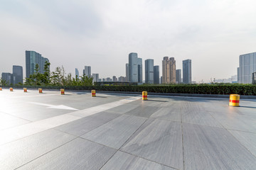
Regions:
<instances>
[{"instance_id":1,"label":"tallest blue-gray glass tower in the central skyline cluster","mask_svg":"<svg viewBox=\"0 0 256 170\"><path fill-rule=\"evenodd\" d=\"M129 81L138 82L138 55L129 53Z\"/></svg>"}]
</instances>

